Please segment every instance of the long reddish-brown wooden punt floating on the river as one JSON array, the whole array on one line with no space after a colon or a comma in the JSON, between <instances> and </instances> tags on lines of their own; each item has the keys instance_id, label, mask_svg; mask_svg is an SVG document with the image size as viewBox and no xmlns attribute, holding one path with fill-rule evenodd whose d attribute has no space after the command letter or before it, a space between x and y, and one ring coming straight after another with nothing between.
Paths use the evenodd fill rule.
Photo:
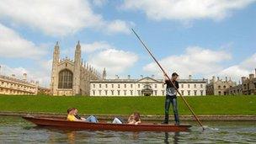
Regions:
<instances>
[{"instance_id":1,"label":"long reddish-brown wooden punt floating on the river","mask_svg":"<svg viewBox=\"0 0 256 144\"><path fill-rule=\"evenodd\" d=\"M189 131L191 125L161 125L143 123L140 125L111 124L111 123L90 123L83 121L68 121L49 117L23 116L35 125L51 126L68 130L90 130L90 131Z\"/></svg>"}]
</instances>

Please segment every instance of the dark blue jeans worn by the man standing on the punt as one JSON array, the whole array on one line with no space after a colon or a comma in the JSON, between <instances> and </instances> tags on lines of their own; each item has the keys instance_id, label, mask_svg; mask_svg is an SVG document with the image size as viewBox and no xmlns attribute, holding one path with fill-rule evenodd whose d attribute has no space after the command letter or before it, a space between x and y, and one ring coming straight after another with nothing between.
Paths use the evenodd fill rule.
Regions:
<instances>
[{"instance_id":1,"label":"dark blue jeans worn by the man standing on the punt","mask_svg":"<svg viewBox=\"0 0 256 144\"><path fill-rule=\"evenodd\" d=\"M175 123L179 125L179 115L178 115L178 108L177 108L177 97L176 95L173 95L173 96L169 96L169 95L166 95L166 98L165 98L165 109L164 109L164 112L165 112L165 119L164 119L164 122L168 123L168 120L169 120L169 109L170 109L170 104L172 103L173 105L173 114L174 114L174 120L175 120Z\"/></svg>"}]
</instances>

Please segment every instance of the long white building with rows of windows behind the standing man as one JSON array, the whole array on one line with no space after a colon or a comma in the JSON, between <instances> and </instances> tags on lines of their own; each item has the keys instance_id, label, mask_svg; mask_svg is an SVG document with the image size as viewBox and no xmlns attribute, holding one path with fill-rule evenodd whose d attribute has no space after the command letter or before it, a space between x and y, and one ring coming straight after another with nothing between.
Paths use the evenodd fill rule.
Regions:
<instances>
[{"instance_id":1,"label":"long white building with rows of windows behind the standing man","mask_svg":"<svg viewBox=\"0 0 256 144\"><path fill-rule=\"evenodd\" d=\"M179 79L179 91L185 96L205 95L207 79ZM106 79L104 70L103 79L90 81L91 96L163 96L165 87L163 79L142 77L132 79L128 75L125 79L118 76L115 79Z\"/></svg>"}]
</instances>

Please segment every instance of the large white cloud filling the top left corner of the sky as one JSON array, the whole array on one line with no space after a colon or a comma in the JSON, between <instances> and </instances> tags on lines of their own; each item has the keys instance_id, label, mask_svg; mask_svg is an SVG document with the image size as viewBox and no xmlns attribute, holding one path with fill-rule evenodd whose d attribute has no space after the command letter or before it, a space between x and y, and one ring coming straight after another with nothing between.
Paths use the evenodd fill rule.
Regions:
<instances>
[{"instance_id":1,"label":"large white cloud filling the top left corner of the sky","mask_svg":"<svg viewBox=\"0 0 256 144\"><path fill-rule=\"evenodd\" d=\"M84 28L102 31L107 28L111 34L127 33L130 23L104 20L102 15L93 13L91 7L87 0L2 0L0 18L10 20L13 24L40 29L46 35L54 36L74 34ZM112 27L113 24L117 26L116 29Z\"/></svg>"}]
</instances>

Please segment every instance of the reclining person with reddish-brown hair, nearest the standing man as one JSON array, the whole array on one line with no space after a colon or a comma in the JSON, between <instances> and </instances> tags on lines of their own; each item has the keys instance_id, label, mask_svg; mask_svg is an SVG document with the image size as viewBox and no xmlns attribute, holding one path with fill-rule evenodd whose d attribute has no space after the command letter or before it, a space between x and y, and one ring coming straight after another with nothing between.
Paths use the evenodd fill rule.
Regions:
<instances>
[{"instance_id":1,"label":"reclining person with reddish-brown hair, nearest the standing man","mask_svg":"<svg viewBox=\"0 0 256 144\"><path fill-rule=\"evenodd\" d=\"M124 121L121 120L120 118L115 117L112 124L124 124ZM127 124L131 124L131 125L141 124L140 113L135 112L132 115L130 115L129 119L127 120Z\"/></svg>"}]
</instances>

